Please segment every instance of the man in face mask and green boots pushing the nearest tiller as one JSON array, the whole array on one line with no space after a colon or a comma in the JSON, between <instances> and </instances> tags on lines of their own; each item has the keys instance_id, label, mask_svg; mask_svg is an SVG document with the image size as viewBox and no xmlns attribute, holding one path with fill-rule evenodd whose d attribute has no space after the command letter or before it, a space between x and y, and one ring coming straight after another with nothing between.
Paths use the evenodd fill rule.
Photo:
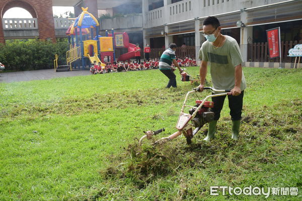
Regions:
<instances>
[{"instance_id":1,"label":"man in face mask and green boots pushing the nearest tiller","mask_svg":"<svg viewBox=\"0 0 302 201\"><path fill-rule=\"evenodd\" d=\"M228 95L230 115L232 119L232 139L238 140L240 121L242 114L243 95L246 81L242 71L243 62L237 41L220 33L221 27L217 18L207 17L203 21L203 35L207 39L199 51L200 65L200 91L203 90L207 73L207 65L210 67L213 88L231 89L232 95ZM219 93L219 92L215 92ZM209 123L207 136L204 140L214 138L216 124L220 118L225 96L212 97L214 102L214 121Z\"/></svg>"}]
</instances>

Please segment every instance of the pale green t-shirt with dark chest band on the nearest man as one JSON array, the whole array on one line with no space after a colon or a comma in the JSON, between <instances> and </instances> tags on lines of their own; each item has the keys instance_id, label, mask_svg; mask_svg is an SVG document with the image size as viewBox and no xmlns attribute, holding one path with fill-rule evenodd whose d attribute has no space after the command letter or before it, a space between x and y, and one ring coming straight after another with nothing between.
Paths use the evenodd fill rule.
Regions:
<instances>
[{"instance_id":1,"label":"pale green t-shirt with dark chest band on the nearest man","mask_svg":"<svg viewBox=\"0 0 302 201\"><path fill-rule=\"evenodd\" d=\"M225 36L225 38L224 44L217 49L211 42L205 41L198 56L200 60L208 62L215 89L233 89L235 86L235 67L243 62L237 41L231 36ZM246 87L242 72L241 90Z\"/></svg>"}]
</instances>

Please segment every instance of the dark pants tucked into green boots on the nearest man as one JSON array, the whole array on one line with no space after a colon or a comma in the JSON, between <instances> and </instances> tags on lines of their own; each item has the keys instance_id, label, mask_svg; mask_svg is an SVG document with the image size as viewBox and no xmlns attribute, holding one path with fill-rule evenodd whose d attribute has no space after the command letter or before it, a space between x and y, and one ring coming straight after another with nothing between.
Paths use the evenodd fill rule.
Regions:
<instances>
[{"instance_id":1,"label":"dark pants tucked into green boots on the nearest man","mask_svg":"<svg viewBox=\"0 0 302 201\"><path fill-rule=\"evenodd\" d=\"M242 114L242 105L243 105L243 95L244 90L241 91L241 94L238 96L228 95L229 99L229 108L231 120L237 121L241 120ZM220 118L220 112L223 107L223 102L226 95L212 97L212 102L214 102L214 108L211 111L214 113L214 120L218 120Z\"/></svg>"}]
</instances>

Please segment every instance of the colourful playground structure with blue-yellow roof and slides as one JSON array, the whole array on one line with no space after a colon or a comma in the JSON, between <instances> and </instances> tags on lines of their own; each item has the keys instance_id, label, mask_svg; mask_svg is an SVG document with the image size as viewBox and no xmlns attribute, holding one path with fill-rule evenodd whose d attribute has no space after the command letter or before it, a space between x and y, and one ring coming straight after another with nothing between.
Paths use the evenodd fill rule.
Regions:
<instances>
[{"instance_id":1,"label":"colourful playground structure with blue-yellow roof and slides","mask_svg":"<svg viewBox=\"0 0 302 201\"><path fill-rule=\"evenodd\" d=\"M58 66L58 55L55 55L55 71L71 71L72 65L85 66L91 65L96 61L105 68L105 62L113 63L115 61L115 49L127 48L128 52L122 54L118 60L125 61L134 57L134 44L129 43L129 36L124 33L108 33L102 37L98 35L100 24L98 20L90 13L88 8L82 8L83 12L74 18L74 22L66 31L69 41L69 50L66 52L66 65ZM96 29L96 30L94 30ZM97 33L97 36L94 36ZM81 62L80 62L81 61Z\"/></svg>"}]
</instances>

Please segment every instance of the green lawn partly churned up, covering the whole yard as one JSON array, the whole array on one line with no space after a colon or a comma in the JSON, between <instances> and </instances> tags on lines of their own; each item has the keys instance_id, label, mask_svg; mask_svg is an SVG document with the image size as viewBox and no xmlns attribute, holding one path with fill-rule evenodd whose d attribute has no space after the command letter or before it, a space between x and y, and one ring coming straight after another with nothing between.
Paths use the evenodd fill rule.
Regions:
<instances>
[{"instance_id":1,"label":"green lawn partly churned up, covering the whole yard","mask_svg":"<svg viewBox=\"0 0 302 201\"><path fill-rule=\"evenodd\" d=\"M244 73L238 142L226 100L213 141L202 141L204 126L190 146L180 136L156 148L138 138L176 131L193 87L179 75L176 89L159 70L0 83L0 200L301 200L302 70ZM250 185L299 191L210 195Z\"/></svg>"}]
</instances>

